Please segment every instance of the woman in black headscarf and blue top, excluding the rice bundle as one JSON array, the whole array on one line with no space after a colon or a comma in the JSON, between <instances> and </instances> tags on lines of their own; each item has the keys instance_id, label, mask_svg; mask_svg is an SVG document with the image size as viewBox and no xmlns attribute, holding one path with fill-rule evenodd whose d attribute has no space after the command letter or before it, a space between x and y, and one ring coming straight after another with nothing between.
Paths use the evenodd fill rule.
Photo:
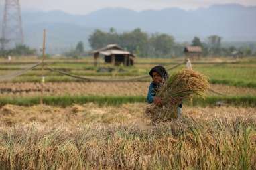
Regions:
<instances>
[{"instance_id":1,"label":"woman in black headscarf and blue top, excluding the rice bundle","mask_svg":"<svg viewBox=\"0 0 256 170\"><path fill-rule=\"evenodd\" d=\"M152 77L153 81L149 86L149 91L147 93L147 102L149 104L154 102L157 105L161 105L161 98L155 96L155 93L157 89L161 86L162 82L168 79L168 73L163 66L155 66L150 70L149 75ZM177 113L178 118L180 118L182 114L182 104L178 106Z\"/></svg>"}]
</instances>

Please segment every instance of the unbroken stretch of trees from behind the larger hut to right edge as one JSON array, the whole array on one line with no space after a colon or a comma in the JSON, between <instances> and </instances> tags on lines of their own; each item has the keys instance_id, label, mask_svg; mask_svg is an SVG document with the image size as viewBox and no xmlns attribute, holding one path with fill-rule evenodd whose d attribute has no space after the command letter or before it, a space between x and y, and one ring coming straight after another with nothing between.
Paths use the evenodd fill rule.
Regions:
<instances>
[{"instance_id":1,"label":"unbroken stretch of trees from behind the larger hut to right edge","mask_svg":"<svg viewBox=\"0 0 256 170\"><path fill-rule=\"evenodd\" d=\"M108 44L119 44L129 52L141 57L172 57L183 56L185 46L200 46L204 56L230 56L233 52L243 55L252 55L251 48L235 48L222 46L222 37L209 36L205 42L199 37L194 37L191 43L176 43L174 37L166 33L148 34L137 28L130 32L117 33L114 28L109 32L95 30L90 35L89 43L92 49L99 49Z\"/></svg>"}]
</instances>

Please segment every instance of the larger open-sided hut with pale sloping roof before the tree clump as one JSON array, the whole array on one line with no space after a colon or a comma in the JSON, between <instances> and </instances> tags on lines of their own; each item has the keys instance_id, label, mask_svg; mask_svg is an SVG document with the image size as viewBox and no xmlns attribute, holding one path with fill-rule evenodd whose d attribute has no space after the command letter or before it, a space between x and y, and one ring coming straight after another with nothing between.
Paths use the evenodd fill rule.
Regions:
<instances>
[{"instance_id":1,"label":"larger open-sided hut with pale sloping roof before the tree clump","mask_svg":"<svg viewBox=\"0 0 256 170\"><path fill-rule=\"evenodd\" d=\"M99 50L94 50L94 62L97 64L97 59L100 54L104 56L105 63L111 63L115 65L123 64L124 66L132 66L134 64L135 56L117 44L109 44L108 46Z\"/></svg>"}]
</instances>

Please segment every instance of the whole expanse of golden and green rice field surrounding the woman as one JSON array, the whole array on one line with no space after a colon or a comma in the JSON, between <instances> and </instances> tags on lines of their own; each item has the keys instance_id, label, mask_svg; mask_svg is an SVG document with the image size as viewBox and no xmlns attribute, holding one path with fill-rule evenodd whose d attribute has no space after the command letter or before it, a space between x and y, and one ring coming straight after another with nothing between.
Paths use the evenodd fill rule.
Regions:
<instances>
[{"instance_id":1,"label":"whole expanse of golden and green rice field surrounding the woman","mask_svg":"<svg viewBox=\"0 0 256 170\"><path fill-rule=\"evenodd\" d=\"M36 61L0 59L0 77ZM182 61L139 58L129 68L94 67L90 58L46 62L79 76L128 78ZM159 124L145 116L151 78L84 82L45 70L42 105L40 67L1 81L0 169L256 169L256 60L231 62L192 62L217 94L184 102L180 120Z\"/></svg>"}]
</instances>

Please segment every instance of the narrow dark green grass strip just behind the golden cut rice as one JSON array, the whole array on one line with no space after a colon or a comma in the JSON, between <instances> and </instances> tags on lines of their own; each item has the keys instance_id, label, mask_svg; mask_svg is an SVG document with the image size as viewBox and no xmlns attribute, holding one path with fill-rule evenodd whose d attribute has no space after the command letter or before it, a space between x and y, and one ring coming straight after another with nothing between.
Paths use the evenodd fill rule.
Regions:
<instances>
[{"instance_id":1,"label":"narrow dark green grass strip just behind the golden cut rice","mask_svg":"<svg viewBox=\"0 0 256 170\"><path fill-rule=\"evenodd\" d=\"M94 102L100 105L119 106L125 103L146 102L145 96L44 96L44 104L50 106L70 106L72 104L84 104ZM204 100L194 98L193 106L216 106L217 102L227 106L250 106L256 107L256 96L209 96ZM34 106L40 104L40 97L2 97L0 106L13 104L19 106ZM185 102L190 105L190 102Z\"/></svg>"}]
</instances>

